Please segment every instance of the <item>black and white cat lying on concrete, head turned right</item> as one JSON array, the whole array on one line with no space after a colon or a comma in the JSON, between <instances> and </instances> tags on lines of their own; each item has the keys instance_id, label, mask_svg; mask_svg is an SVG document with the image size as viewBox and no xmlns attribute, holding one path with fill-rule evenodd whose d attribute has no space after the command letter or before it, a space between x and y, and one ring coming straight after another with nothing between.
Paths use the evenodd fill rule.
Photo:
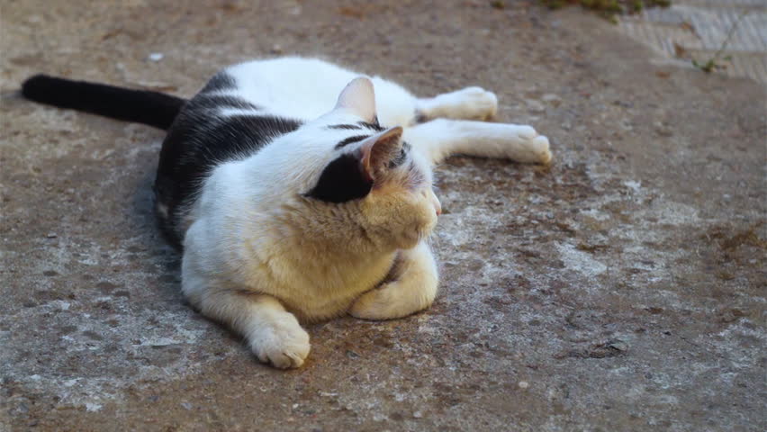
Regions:
<instances>
[{"instance_id":1,"label":"black and white cat lying on concrete, head turned right","mask_svg":"<svg viewBox=\"0 0 767 432\"><path fill-rule=\"evenodd\" d=\"M167 129L155 210L183 251L182 291L277 368L309 355L300 322L431 305L433 166L456 153L551 158L532 127L484 121L498 101L483 88L418 98L317 58L227 67L188 101L50 76L23 94Z\"/></svg>"}]
</instances>

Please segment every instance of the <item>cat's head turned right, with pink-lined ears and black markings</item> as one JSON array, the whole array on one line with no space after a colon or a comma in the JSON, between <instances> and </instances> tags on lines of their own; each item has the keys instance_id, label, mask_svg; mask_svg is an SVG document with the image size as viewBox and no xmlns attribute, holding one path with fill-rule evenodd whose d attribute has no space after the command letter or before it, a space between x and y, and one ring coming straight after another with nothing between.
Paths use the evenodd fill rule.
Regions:
<instances>
[{"instance_id":1,"label":"cat's head turned right, with pink-lined ears and black markings","mask_svg":"<svg viewBox=\"0 0 767 432\"><path fill-rule=\"evenodd\" d=\"M365 77L347 85L331 112L296 131L315 158L296 191L314 234L382 248L414 247L429 235L441 212L431 167L402 133L378 124Z\"/></svg>"}]
</instances>

